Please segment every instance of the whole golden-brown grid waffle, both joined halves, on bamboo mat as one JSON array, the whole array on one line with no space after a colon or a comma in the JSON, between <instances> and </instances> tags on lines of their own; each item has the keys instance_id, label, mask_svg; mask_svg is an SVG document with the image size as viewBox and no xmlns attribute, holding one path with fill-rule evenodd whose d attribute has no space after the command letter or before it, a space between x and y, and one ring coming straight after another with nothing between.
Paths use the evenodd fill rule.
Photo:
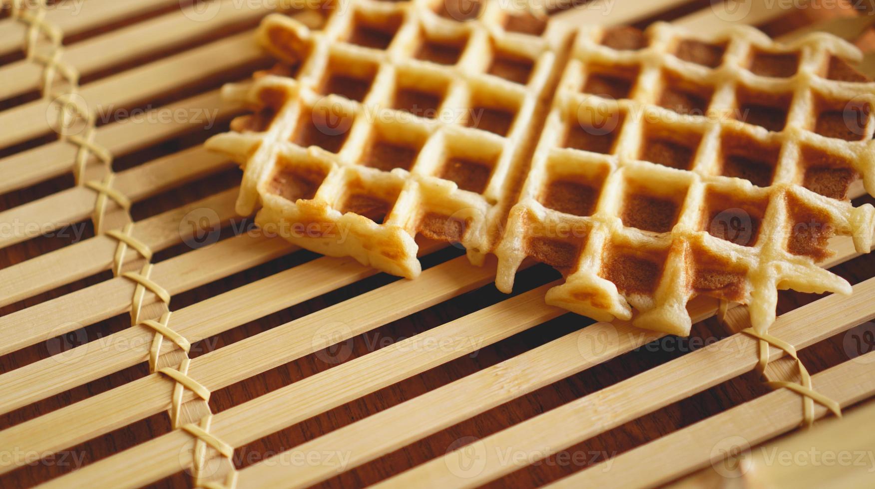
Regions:
<instances>
[{"instance_id":1,"label":"whole golden-brown grid waffle, both joined halves, on bamboo mat","mask_svg":"<svg viewBox=\"0 0 875 489\"><path fill-rule=\"evenodd\" d=\"M875 191L857 48L745 26L531 35L506 31L497 2L465 22L441 4L341 0L318 31L265 19L260 43L296 67L226 87L255 114L207 142L245 168L239 213L260 206L265 230L398 276L420 272L417 234L475 264L493 253L506 292L523 260L545 262L565 276L549 304L680 335L693 297L748 304L762 332L780 289L851 292L817 262L833 235L872 248L875 208L846 198L857 178ZM486 73L485 52L528 80Z\"/></svg>"}]
</instances>

